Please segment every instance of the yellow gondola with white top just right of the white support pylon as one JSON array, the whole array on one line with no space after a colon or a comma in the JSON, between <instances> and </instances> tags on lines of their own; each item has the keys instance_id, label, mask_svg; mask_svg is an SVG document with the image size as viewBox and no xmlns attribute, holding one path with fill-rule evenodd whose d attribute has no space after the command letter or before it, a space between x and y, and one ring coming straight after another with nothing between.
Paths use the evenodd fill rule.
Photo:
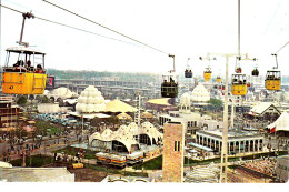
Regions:
<instances>
[{"instance_id":1,"label":"yellow gondola with white top just right of the white support pylon","mask_svg":"<svg viewBox=\"0 0 289 192\"><path fill-rule=\"evenodd\" d=\"M247 80L246 74L232 74L231 92L233 95L247 94Z\"/></svg>"}]
</instances>

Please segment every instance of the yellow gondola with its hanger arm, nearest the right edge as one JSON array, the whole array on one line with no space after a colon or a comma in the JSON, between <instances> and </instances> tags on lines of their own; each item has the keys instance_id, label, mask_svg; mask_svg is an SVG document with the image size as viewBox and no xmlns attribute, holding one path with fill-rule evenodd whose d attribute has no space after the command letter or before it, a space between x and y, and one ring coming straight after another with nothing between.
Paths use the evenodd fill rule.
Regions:
<instances>
[{"instance_id":1,"label":"yellow gondola with its hanger arm, nearest the right edge","mask_svg":"<svg viewBox=\"0 0 289 192\"><path fill-rule=\"evenodd\" d=\"M280 90L281 89L281 72L278 70L277 54L276 57L276 68L268 70L266 73L265 87L267 90Z\"/></svg>"}]
</instances>

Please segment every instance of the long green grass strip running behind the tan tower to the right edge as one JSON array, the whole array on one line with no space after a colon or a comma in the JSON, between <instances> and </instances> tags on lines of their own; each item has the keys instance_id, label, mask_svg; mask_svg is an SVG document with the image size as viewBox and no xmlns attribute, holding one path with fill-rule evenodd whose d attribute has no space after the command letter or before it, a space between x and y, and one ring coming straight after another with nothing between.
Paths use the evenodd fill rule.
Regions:
<instances>
[{"instance_id":1,"label":"long green grass strip running behind the tan tower to the right edge","mask_svg":"<svg viewBox=\"0 0 289 192\"><path fill-rule=\"evenodd\" d=\"M287 154L287 151L279 151L278 155L283 155ZM259 154L255 154L255 155L247 155L247 156L242 156L242 160L252 160L252 159L258 159L260 156L273 156L273 152L271 152L270 154L267 153L259 153ZM188 162L189 161L189 162ZM233 161L239 161L239 158L228 158L228 162L233 162ZM221 159L220 158L215 158L215 159L208 159L208 160L191 160L191 159L183 159L183 164L185 166L195 166L195 165L203 165L203 164L209 164L209 163L220 163ZM162 169L162 155L147 161L143 164L136 164L133 165L133 169L136 170L141 170L143 166L144 170L161 170Z\"/></svg>"}]
</instances>

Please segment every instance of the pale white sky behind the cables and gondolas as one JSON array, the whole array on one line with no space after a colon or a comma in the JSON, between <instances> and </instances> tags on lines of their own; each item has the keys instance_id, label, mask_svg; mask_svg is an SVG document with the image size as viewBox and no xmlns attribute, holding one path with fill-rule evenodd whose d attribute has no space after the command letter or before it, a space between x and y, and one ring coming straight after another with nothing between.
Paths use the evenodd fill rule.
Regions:
<instances>
[{"instance_id":1,"label":"pale white sky behind the cables and gondolas","mask_svg":"<svg viewBox=\"0 0 289 192\"><path fill-rule=\"evenodd\" d=\"M49 0L94 22L144 42L162 52L126 39L42 0L1 0L21 12L81 28L103 38L49 23L26 21L23 41L47 53L46 67L60 70L93 70L183 75L187 59L193 74L201 75L207 53L238 53L238 0ZM258 58L260 74L275 65L271 53L289 41L288 0L241 0L240 52ZM17 46L22 26L20 13L1 8L1 65L4 50ZM165 53L163 53L165 52ZM289 46L278 53L279 69L289 74ZM225 58L211 61L213 77L225 75ZM236 59L229 60L232 73ZM242 61L250 74L257 62Z\"/></svg>"}]
</instances>

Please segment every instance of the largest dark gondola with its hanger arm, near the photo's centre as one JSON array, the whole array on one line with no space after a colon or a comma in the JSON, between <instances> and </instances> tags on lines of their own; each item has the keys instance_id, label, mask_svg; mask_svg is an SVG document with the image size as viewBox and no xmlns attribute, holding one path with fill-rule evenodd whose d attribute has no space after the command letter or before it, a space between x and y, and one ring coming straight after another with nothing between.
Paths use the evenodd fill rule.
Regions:
<instances>
[{"instance_id":1,"label":"largest dark gondola with its hanger arm, near the photo's centre","mask_svg":"<svg viewBox=\"0 0 289 192\"><path fill-rule=\"evenodd\" d=\"M161 97L177 98L178 97L178 75L175 73L175 55L169 54L173 59L173 70L162 75Z\"/></svg>"}]
</instances>

